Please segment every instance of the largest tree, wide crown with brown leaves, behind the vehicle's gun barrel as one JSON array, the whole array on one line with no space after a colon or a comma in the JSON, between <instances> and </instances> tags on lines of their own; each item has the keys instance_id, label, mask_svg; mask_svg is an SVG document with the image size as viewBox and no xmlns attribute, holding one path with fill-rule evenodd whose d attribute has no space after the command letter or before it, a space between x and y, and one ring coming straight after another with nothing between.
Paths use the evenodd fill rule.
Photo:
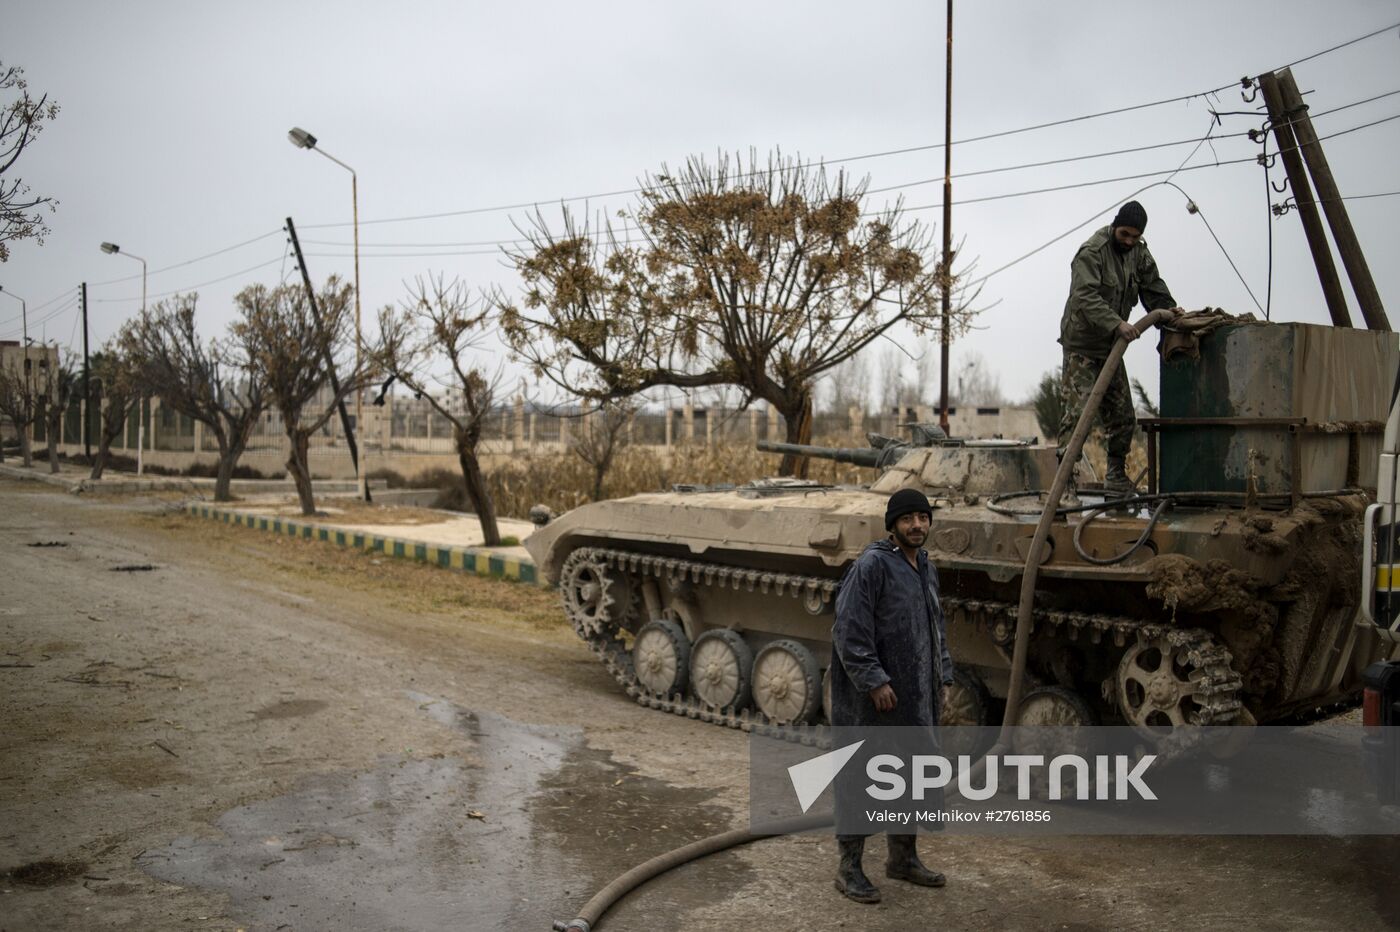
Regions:
<instances>
[{"instance_id":1,"label":"largest tree, wide crown with brown leaves, behind the vehicle's gun barrel","mask_svg":"<svg viewBox=\"0 0 1400 932\"><path fill-rule=\"evenodd\" d=\"M900 206L868 211L865 182L781 155L689 160L647 178L624 218L641 245L603 230L599 249L566 217L563 236L536 214L511 253L525 281L504 308L511 348L561 388L596 400L671 385L736 385L812 434L818 378L890 327L939 326L930 231ZM953 325L966 326L966 302ZM780 472L805 473L806 458Z\"/></svg>"}]
</instances>

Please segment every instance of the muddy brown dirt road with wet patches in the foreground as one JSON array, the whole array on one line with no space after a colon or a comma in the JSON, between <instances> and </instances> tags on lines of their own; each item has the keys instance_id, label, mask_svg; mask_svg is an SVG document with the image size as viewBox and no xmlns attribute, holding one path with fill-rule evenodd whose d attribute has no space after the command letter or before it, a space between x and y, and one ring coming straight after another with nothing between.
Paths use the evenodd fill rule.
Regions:
<instances>
[{"instance_id":1,"label":"muddy brown dirt road with wet patches in the foreground","mask_svg":"<svg viewBox=\"0 0 1400 932\"><path fill-rule=\"evenodd\" d=\"M552 595L161 512L0 480L0 932L547 929L745 824L746 739L619 696ZM787 838L603 928L1400 925L1394 838L923 848L945 890L860 907Z\"/></svg>"}]
</instances>

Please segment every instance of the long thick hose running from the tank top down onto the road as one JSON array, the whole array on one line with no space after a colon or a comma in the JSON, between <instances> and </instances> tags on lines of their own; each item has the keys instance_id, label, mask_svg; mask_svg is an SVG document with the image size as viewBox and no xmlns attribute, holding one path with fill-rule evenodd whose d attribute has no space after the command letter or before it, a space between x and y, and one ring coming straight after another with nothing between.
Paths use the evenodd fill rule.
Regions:
<instances>
[{"instance_id":1,"label":"long thick hose running from the tank top down onto the road","mask_svg":"<svg viewBox=\"0 0 1400 932\"><path fill-rule=\"evenodd\" d=\"M1141 334L1148 327L1170 318L1172 313L1169 311L1152 311L1134 326ZM1067 452L1060 460L1060 469L1056 472L1054 483L1050 486L1050 497L1046 500L1046 507L1040 512L1040 523L1036 526L1036 536L1032 539L1030 551L1026 556L1026 568L1022 572L1021 609L1016 614L1016 645L1011 655L1011 689L1007 693L1007 714L1005 718L1002 718L1001 733L998 735L997 742L987 749L977 764L972 768L972 779L977 778L979 771L986 770L988 757L1000 754L1009 746L1011 728L1016 723L1016 707L1021 704L1022 680L1026 676L1026 654L1030 644L1030 607L1035 602L1036 578L1040 574L1040 563L1036 557L1050 533L1050 522L1054 521L1056 515L1054 504L1058 502L1060 495L1064 494L1064 488L1070 481L1070 474L1074 472L1074 463L1079 459L1079 451L1084 449L1084 441L1089 435L1089 424L1093 423L1093 414L1099 410L1099 404L1103 402L1103 395L1109 388L1109 381L1112 379L1117 364L1123 360L1123 351L1126 348L1127 340L1120 337L1117 343L1114 343L1113 351L1109 353L1109 360L1103 364L1103 369L1099 372L1099 379L1093 383L1093 390L1089 392L1089 399L1085 402L1084 413L1079 416L1079 423L1075 425L1074 434L1070 438L1070 452ZM602 918L602 914L606 912L613 903L657 875L665 873L672 868L679 868L680 865L694 861L696 858L703 858L738 845L746 845L750 841L757 841L760 838L773 838L776 835L791 834L794 831L811 831L815 828L823 828L827 824L830 824L829 817L813 816L811 819L799 819L771 826L773 831L755 833L749 828L734 828L732 831L692 841L687 845L657 855L655 858L645 861L622 875L595 893L594 897L584 904L584 908L578 911L577 918L568 922L554 922L554 932L592 932L594 925L599 918Z\"/></svg>"}]
</instances>

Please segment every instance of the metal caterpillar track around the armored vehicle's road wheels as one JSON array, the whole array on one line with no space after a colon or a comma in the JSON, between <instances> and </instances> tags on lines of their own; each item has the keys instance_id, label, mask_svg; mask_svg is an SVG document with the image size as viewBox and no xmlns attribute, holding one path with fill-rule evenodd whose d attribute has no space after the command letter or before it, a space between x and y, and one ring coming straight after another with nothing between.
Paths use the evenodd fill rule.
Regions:
<instances>
[{"instance_id":1,"label":"metal caterpillar track around the armored vehicle's road wheels","mask_svg":"<svg viewBox=\"0 0 1400 932\"><path fill-rule=\"evenodd\" d=\"M829 603L836 595L837 581L823 577L804 577L783 572L743 570L714 563L657 557L627 550L587 547L584 557L605 567L626 572L633 578L668 578L689 581L693 585L721 586L759 592L776 598L809 598ZM578 551L575 551L578 553ZM573 554L571 554L573 556ZM944 596L944 614L949 623L986 626L998 644L1009 644L1015 638L1016 606L1008 602L959 599ZM631 654L626 645L610 633L596 633L574 623L575 631L598 655L603 666L617 682L617 686L638 705L655 708L673 715L734 728L743 732L777 737L808 746L829 743L826 725L778 725L757 709L732 712L714 709L697 698L682 694L657 696L637 682ZM1197 725L1219 725L1232 721L1240 711L1239 693L1242 682L1231 668L1231 654L1218 644L1210 631L1200 628L1176 628L1168 624L1138 621L1127 617L1091 614L1084 612L1036 610L1030 620L1032 633L1046 626L1063 633L1068 640L1088 638L1092 644L1105 637L1124 647L1130 640L1144 642L1165 640L1173 647L1187 648L1197 676L1193 677L1193 698L1200 705Z\"/></svg>"}]
</instances>

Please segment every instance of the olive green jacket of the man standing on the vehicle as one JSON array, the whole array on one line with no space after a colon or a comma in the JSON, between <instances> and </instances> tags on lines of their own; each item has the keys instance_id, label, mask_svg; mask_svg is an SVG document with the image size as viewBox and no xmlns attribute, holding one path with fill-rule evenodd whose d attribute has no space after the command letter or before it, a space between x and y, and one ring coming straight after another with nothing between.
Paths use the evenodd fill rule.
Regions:
<instances>
[{"instance_id":1,"label":"olive green jacket of the man standing on the vehicle","mask_svg":"<svg viewBox=\"0 0 1400 932\"><path fill-rule=\"evenodd\" d=\"M1079 246L1070 263L1070 299L1060 318L1060 346L1106 360L1113 350L1113 332L1140 299L1148 311L1176 306L1147 241L1119 252L1113 227L1103 227Z\"/></svg>"}]
</instances>

